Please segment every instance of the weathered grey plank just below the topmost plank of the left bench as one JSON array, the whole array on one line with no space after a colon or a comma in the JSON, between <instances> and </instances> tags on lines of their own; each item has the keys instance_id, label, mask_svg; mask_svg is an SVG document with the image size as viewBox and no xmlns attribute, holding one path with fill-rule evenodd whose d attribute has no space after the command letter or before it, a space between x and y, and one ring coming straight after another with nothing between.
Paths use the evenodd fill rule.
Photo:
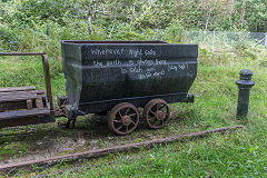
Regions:
<instances>
[{"instance_id":1,"label":"weathered grey plank just below the topmost plank of the left bench","mask_svg":"<svg viewBox=\"0 0 267 178\"><path fill-rule=\"evenodd\" d=\"M33 91L14 91L14 92L0 92L0 102L20 101L37 98Z\"/></svg>"}]
</instances>

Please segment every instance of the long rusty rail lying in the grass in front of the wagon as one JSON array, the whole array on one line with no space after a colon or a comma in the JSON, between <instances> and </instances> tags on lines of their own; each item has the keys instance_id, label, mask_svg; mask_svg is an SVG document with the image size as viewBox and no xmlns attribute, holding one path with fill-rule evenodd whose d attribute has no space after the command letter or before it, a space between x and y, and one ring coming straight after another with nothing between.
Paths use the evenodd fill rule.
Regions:
<instances>
[{"instance_id":1,"label":"long rusty rail lying in the grass in front of the wagon","mask_svg":"<svg viewBox=\"0 0 267 178\"><path fill-rule=\"evenodd\" d=\"M0 166L0 171L7 172L7 171L16 170L19 168L31 169L32 165L34 165L34 166L52 166L52 165L55 165L57 162L61 162L61 161L76 161L76 160L80 160L80 159L91 159L91 158L102 157L108 154L116 154L119 151L129 151L129 150L138 149L140 147L152 147L154 145L168 144L168 142L177 141L179 139L205 137L210 134L225 134L225 132L230 132L230 131L234 131L237 129L245 129L245 127L243 125L237 125L237 126L233 126L233 127L222 127L222 128L217 128L217 129L211 129L211 130L191 132L191 134L186 134L186 135L177 135L177 136L171 136L171 137L167 137L167 138L152 139L152 140L148 140L148 141L144 141L144 142L128 144L128 145L123 145L123 146L116 146L116 147L110 147L110 148L105 148L105 149L90 150L90 151L83 151L83 152L65 155L65 156L56 156L56 157L43 158L43 159L38 159L38 160L7 164L3 166Z\"/></svg>"}]
</instances>

